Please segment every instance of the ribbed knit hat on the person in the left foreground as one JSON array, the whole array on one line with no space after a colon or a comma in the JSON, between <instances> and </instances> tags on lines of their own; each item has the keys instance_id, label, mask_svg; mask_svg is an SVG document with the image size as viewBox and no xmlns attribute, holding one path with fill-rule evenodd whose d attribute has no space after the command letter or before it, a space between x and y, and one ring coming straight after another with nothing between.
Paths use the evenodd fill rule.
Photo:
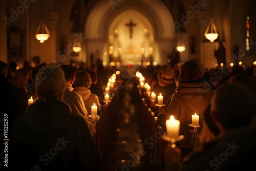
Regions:
<instances>
[{"instance_id":1,"label":"ribbed knit hat on the person in the left foreground","mask_svg":"<svg viewBox=\"0 0 256 171\"><path fill-rule=\"evenodd\" d=\"M35 79L38 96L57 97L66 89L66 79L61 68L54 65L42 67Z\"/></svg>"}]
</instances>

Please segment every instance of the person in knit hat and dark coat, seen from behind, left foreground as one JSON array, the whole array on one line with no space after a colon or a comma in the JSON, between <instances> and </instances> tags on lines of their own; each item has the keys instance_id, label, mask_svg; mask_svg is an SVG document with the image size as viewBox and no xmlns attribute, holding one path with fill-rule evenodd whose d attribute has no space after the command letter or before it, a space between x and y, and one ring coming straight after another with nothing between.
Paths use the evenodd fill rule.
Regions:
<instances>
[{"instance_id":1,"label":"person in knit hat and dark coat, seen from behind, left foreground","mask_svg":"<svg viewBox=\"0 0 256 171\"><path fill-rule=\"evenodd\" d=\"M86 122L62 101L63 71L41 68L35 79L38 99L12 126L10 170L100 170L100 158Z\"/></svg>"}]
</instances>

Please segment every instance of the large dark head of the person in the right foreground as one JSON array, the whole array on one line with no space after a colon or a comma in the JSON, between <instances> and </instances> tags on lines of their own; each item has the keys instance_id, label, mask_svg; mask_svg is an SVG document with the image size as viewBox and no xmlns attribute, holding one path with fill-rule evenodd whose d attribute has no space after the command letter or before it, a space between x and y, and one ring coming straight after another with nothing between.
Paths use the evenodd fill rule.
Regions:
<instances>
[{"instance_id":1,"label":"large dark head of the person in the right foreground","mask_svg":"<svg viewBox=\"0 0 256 171\"><path fill-rule=\"evenodd\" d=\"M223 84L212 96L210 116L220 132L249 126L255 116L253 97L240 84Z\"/></svg>"}]
</instances>

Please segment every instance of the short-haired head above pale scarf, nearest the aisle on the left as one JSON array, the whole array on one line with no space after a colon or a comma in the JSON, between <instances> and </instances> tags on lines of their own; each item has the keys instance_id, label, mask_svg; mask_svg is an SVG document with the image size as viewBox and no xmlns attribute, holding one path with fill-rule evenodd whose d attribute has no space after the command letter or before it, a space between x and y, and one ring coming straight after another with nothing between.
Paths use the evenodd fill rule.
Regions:
<instances>
[{"instance_id":1,"label":"short-haired head above pale scarf, nearest the aisle on the left","mask_svg":"<svg viewBox=\"0 0 256 171\"><path fill-rule=\"evenodd\" d=\"M87 89L90 89L91 85L92 85L92 79L88 72L86 71L76 72L74 87L86 87Z\"/></svg>"}]
</instances>

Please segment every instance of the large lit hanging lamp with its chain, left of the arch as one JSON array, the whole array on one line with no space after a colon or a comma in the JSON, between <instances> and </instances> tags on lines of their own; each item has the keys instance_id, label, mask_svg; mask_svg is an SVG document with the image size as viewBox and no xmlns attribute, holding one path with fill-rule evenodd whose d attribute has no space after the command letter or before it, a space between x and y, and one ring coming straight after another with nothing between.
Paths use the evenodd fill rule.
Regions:
<instances>
[{"instance_id":1,"label":"large lit hanging lamp with its chain, left of the arch","mask_svg":"<svg viewBox=\"0 0 256 171\"><path fill-rule=\"evenodd\" d=\"M41 1L41 7L43 7L43 4L42 4L42 1ZM43 9L41 9L41 15L43 14ZM42 19L42 16L41 16L41 21L40 21L40 24L36 30L36 33L35 33L35 37L37 40L40 41L40 43L42 44L43 42L45 42L45 40L47 40L49 37L50 37L50 32L44 22L44 20Z\"/></svg>"}]
</instances>

